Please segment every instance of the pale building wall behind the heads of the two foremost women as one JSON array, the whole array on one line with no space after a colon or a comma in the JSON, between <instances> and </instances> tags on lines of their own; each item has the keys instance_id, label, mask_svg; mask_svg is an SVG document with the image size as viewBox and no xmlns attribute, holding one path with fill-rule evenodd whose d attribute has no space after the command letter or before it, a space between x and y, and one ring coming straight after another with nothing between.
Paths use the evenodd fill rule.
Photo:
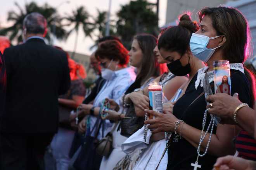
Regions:
<instances>
[{"instance_id":1,"label":"pale building wall behind the heads of the two foremost women","mask_svg":"<svg viewBox=\"0 0 256 170\"><path fill-rule=\"evenodd\" d=\"M244 14L251 28L253 55L256 55L256 0L168 0L166 26L175 26L178 16L187 10L192 12L192 19L198 21L197 12L201 8L220 5L235 7Z\"/></svg>"}]
</instances>

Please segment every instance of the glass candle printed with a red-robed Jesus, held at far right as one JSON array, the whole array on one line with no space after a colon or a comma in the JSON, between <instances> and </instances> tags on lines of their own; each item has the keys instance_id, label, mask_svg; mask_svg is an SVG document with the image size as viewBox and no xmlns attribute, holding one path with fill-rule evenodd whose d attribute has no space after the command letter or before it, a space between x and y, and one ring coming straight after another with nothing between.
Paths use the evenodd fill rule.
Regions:
<instances>
[{"instance_id":1,"label":"glass candle printed with a red-robed Jesus, held at far right","mask_svg":"<svg viewBox=\"0 0 256 170\"><path fill-rule=\"evenodd\" d=\"M231 95L230 65L227 60L214 61L214 93Z\"/></svg>"}]
</instances>

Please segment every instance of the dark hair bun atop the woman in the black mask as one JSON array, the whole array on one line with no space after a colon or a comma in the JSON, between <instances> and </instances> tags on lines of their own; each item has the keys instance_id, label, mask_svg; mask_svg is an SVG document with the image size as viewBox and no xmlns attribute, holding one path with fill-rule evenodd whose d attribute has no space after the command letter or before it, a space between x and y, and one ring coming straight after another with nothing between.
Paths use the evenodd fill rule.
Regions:
<instances>
[{"instance_id":1,"label":"dark hair bun atop the woman in the black mask","mask_svg":"<svg viewBox=\"0 0 256 170\"><path fill-rule=\"evenodd\" d=\"M180 17L180 23L178 26L185 27L191 32L197 32L199 29L197 22L193 22L188 14L183 14Z\"/></svg>"}]
</instances>

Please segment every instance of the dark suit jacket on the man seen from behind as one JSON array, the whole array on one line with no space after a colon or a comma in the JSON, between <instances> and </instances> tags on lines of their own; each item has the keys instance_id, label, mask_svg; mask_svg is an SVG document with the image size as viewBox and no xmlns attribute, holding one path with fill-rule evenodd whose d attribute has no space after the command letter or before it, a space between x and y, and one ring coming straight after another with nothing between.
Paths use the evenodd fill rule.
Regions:
<instances>
[{"instance_id":1,"label":"dark suit jacket on the man seen from behind","mask_svg":"<svg viewBox=\"0 0 256 170\"><path fill-rule=\"evenodd\" d=\"M66 54L32 38L5 49L6 113L2 133L56 133L58 96L70 87Z\"/></svg>"}]
</instances>

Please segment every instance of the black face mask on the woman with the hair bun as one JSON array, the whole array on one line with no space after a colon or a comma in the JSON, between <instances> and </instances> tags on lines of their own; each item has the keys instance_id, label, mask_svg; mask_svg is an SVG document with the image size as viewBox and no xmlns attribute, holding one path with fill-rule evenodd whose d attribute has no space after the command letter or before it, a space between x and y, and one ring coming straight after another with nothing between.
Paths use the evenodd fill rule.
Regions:
<instances>
[{"instance_id":1,"label":"black face mask on the woman with the hair bun","mask_svg":"<svg viewBox=\"0 0 256 170\"><path fill-rule=\"evenodd\" d=\"M190 60L190 58L189 58ZM177 59L167 65L168 69L176 76L185 76L191 71L190 63L182 66L180 59Z\"/></svg>"}]
</instances>

